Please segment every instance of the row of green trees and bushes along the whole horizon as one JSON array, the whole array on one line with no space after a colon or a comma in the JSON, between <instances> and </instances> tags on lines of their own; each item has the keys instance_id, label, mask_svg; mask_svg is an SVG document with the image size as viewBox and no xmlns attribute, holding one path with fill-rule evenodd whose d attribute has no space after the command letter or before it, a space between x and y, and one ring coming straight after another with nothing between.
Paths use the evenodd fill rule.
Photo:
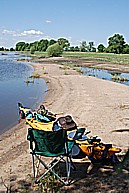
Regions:
<instances>
[{"instance_id":1,"label":"row of green trees and bushes along the whole horizon","mask_svg":"<svg viewBox=\"0 0 129 193\"><path fill-rule=\"evenodd\" d=\"M70 42L67 39L59 38L58 40L41 39L33 43L18 42L15 48L8 50L2 47L0 51L30 51L31 54L34 54L36 51L47 51L50 56L60 55L63 51L129 54L129 44L125 42L123 35L114 34L112 37L109 37L107 47L99 44L98 47L95 48L93 41L88 44L86 41L82 41L80 46L70 46Z\"/></svg>"}]
</instances>

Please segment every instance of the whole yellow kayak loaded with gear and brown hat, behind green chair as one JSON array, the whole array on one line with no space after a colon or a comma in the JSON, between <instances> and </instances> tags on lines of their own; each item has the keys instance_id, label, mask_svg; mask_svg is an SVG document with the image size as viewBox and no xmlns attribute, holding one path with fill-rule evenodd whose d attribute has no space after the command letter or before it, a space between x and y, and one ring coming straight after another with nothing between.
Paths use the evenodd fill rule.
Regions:
<instances>
[{"instance_id":1,"label":"whole yellow kayak loaded with gear and brown hat, behind green chair","mask_svg":"<svg viewBox=\"0 0 129 193\"><path fill-rule=\"evenodd\" d=\"M33 129L55 132L62 129L66 130L68 138L74 140L77 144L72 150L73 156L78 155L81 151L85 156L88 156L93 164L115 164L118 161L115 154L121 152L120 148L113 147L112 144L102 143L101 139L97 137L89 138L87 136L89 131L86 132L85 128L78 128L71 115L59 117L56 120L52 118L53 121L50 121L50 119L45 116L48 111L43 105L41 105L40 110L36 112L27 107L23 107L21 103L18 103L18 106L21 118L26 118L26 123Z\"/></svg>"}]
</instances>

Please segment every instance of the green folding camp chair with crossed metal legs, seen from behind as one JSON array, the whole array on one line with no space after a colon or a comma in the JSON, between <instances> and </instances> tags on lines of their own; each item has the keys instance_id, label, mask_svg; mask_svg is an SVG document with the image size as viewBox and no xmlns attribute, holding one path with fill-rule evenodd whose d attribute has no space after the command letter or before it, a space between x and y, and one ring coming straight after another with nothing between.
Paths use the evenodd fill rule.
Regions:
<instances>
[{"instance_id":1,"label":"green folding camp chair with crossed metal legs, seen from behind","mask_svg":"<svg viewBox=\"0 0 129 193\"><path fill-rule=\"evenodd\" d=\"M68 141L67 132L63 129L58 131L43 131L38 129L29 128L27 139L30 141L30 149L32 154L33 173L35 183L40 180L48 173L53 173L61 182L65 185L70 183L70 170L71 167L75 169L72 163L71 151L74 146L74 141ZM49 163L45 163L45 157L52 157L53 160ZM39 164L44 166L44 173L38 176L39 164L35 167L35 159L38 159ZM66 163L66 179L55 172L54 167L61 161Z\"/></svg>"}]
</instances>

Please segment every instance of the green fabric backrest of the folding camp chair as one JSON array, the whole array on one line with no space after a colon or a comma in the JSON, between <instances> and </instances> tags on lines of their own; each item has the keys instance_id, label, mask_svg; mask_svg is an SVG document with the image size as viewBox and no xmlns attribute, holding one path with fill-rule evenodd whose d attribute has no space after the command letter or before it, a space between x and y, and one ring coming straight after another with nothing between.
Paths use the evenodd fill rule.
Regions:
<instances>
[{"instance_id":1,"label":"green fabric backrest of the folding camp chair","mask_svg":"<svg viewBox=\"0 0 129 193\"><path fill-rule=\"evenodd\" d=\"M28 140L35 142L35 152L44 156L64 155L66 153L66 131L43 131L30 128Z\"/></svg>"}]
</instances>

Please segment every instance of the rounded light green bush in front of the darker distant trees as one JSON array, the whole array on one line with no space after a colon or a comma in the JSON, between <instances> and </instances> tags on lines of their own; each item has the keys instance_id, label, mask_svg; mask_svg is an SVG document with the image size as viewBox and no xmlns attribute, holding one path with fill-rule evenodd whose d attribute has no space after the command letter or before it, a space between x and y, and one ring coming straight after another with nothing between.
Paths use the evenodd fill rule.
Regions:
<instances>
[{"instance_id":1,"label":"rounded light green bush in front of the darker distant trees","mask_svg":"<svg viewBox=\"0 0 129 193\"><path fill-rule=\"evenodd\" d=\"M61 54L63 53L63 48L61 48L58 43L55 43L49 46L46 51L49 57L61 56Z\"/></svg>"}]
</instances>

